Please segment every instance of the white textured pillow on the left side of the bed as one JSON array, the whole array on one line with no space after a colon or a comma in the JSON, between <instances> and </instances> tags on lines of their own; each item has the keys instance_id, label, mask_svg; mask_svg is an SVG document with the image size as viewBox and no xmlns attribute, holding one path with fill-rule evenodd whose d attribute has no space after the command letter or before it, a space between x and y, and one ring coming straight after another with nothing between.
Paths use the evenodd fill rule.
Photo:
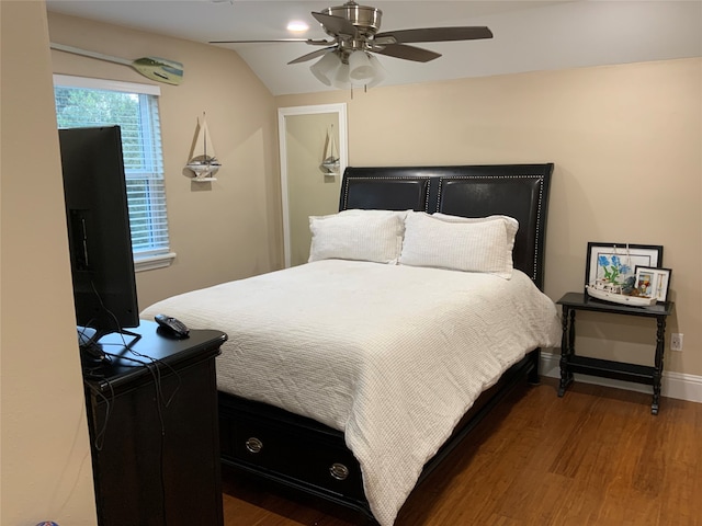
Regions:
<instances>
[{"instance_id":1,"label":"white textured pillow on the left side of the bed","mask_svg":"<svg viewBox=\"0 0 702 526\"><path fill-rule=\"evenodd\" d=\"M356 260L396 264L403 247L405 211L343 210L310 216L309 260Z\"/></svg>"}]
</instances>

